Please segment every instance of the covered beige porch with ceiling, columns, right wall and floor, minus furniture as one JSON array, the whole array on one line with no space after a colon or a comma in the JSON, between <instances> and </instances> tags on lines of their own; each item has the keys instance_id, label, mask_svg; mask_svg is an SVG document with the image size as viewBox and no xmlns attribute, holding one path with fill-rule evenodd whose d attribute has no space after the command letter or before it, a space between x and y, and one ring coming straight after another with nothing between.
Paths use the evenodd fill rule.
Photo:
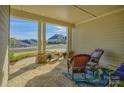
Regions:
<instances>
[{"instance_id":1,"label":"covered beige porch with ceiling, columns, right wall and floor, minus furniture","mask_svg":"<svg viewBox=\"0 0 124 93\"><path fill-rule=\"evenodd\" d=\"M8 86L76 87L62 73L67 71L67 59L74 54L91 54L103 49L99 64L116 70L124 63L124 6L10 6L10 16L38 23L37 56L10 65ZM67 28L67 58L46 62L46 24ZM37 64L38 63L38 64ZM18 68L20 67L20 68Z\"/></svg>"}]
</instances>

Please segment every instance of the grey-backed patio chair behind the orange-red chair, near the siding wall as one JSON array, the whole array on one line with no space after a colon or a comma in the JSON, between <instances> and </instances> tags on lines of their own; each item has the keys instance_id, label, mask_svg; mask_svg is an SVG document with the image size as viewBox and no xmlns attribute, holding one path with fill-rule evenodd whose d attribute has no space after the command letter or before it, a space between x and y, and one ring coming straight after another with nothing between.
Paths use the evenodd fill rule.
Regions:
<instances>
[{"instance_id":1,"label":"grey-backed patio chair behind the orange-red chair, near the siding wall","mask_svg":"<svg viewBox=\"0 0 124 93\"><path fill-rule=\"evenodd\" d=\"M102 49L95 49L91 55L90 55L90 61L88 62L87 65L87 70L91 71L94 75L95 71L97 70L97 66L99 64L99 60L101 56L103 55L104 50Z\"/></svg>"}]
</instances>

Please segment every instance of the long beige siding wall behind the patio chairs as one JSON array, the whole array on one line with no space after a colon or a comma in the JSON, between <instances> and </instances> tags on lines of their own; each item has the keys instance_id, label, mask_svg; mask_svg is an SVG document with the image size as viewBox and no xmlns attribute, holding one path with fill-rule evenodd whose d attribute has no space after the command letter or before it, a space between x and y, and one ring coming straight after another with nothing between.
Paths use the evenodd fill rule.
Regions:
<instances>
[{"instance_id":1,"label":"long beige siding wall behind the patio chairs","mask_svg":"<svg viewBox=\"0 0 124 93\"><path fill-rule=\"evenodd\" d=\"M76 26L73 50L91 53L96 48L105 50L101 63L107 66L124 63L124 11Z\"/></svg>"}]
</instances>

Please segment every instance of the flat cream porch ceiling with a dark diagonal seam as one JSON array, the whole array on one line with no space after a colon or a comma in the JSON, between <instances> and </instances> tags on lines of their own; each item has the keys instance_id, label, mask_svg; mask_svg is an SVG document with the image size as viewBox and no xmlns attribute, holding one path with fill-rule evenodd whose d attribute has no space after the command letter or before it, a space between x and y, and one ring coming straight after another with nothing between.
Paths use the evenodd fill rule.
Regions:
<instances>
[{"instance_id":1,"label":"flat cream porch ceiling with a dark diagonal seam","mask_svg":"<svg viewBox=\"0 0 124 93\"><path fill-rule=\"evenodd\" d=\"M116 5L12 5L11 8L77 24L124 8Z\"/></svg>"}]
</instances>

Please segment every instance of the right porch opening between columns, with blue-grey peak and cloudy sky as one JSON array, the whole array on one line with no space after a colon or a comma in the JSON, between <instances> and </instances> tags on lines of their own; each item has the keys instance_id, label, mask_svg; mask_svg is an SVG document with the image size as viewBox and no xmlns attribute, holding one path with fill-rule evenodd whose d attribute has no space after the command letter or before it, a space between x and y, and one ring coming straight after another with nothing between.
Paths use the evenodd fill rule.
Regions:
<instances>
[{"instance_id":1,"label":"right porch opening between columns, with blue-grey peak and cloudy sky","mask_svg":"<svg viewBox=\"0 0 124 93\"><path fill-rule=\"evenodd\" d=\"M67 49L67 28L59 25L46 24L46 51L65 52Z\"/></svg>"}]
</instances>

